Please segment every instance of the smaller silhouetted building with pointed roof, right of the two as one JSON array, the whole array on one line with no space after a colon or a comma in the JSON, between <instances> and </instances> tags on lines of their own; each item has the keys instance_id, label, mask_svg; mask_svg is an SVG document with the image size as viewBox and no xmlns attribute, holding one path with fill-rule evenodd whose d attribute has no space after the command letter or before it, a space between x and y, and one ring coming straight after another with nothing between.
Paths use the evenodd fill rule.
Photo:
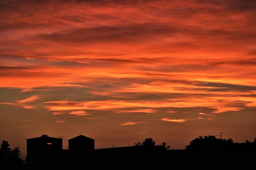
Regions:
<instances>
[{"instance_id":1,"label":"smaller silhouetted building with pointed roof, right of the two","mask_svg":"<svg viewBox=\"0 0 256 170\"><path fill-rule=\"evenodd\" d=\"M94 139L79 135L68 140L68 150L74 151L92 151L94 150Z\"/></svg>"}]
</instances>

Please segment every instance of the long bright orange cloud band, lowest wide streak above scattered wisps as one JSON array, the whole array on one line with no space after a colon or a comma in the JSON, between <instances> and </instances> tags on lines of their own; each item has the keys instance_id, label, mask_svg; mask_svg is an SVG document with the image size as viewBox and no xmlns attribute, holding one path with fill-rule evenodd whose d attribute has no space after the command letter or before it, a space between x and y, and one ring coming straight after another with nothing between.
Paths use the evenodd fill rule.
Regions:
<instances>
[{"instance_id":1,"label":"long bright orange cloud band, lowest wide streak above scattered wisps","mask_svg":"<svg viewBox=\"0 0 256 170\"><path fill-rule=\"evenodd\" d=\"M246 97L241 97L246 98ZM251 98L251 97L250 97ZM225 99L225 100L224 100ZM153 113L154 109L123 109L131 107L209 107L215 109L212 113L222 113L226 111L239 111L242 107L230 107L230 105L241 104L237 101L236 97L220 98L220 97L196 97L186 98L176 97L174 99L162 99L154 101L138 101L134 102L131 100L104 100L104 101L52 101L44 102L48 104L45 106L49 111L67 111L67 110L106 110L106 109L117 109L116 112L146 112ZM218 107L216 107L218 106ZM120 110L120 109L123 110ZM201 113L202 114L202 113ZM205 113L204 113L205 114ZM206 114L205 114L206 115ZM214 116L207 114L209 116Z\"/></svg>"}]
</instances>

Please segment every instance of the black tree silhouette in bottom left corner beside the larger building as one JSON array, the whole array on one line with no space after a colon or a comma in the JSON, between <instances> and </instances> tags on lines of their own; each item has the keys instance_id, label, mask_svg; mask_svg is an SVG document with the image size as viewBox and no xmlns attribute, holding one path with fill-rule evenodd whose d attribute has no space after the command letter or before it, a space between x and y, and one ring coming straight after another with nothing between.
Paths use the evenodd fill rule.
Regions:
<instances>
[{"instance_id":1,"label":"black tree silhouette in bottom left corner beside the larger building","mask_svg":"<svg viewBox=\"0 0 256 170\"><path fill-rule=\"evenodd\" d=\"M6 169L21 170L24 169L24 161L20 158L20 147L12 149L9 147L8 141L2 141L0 145L0 166Z\"/></svg>"}]
</instances>

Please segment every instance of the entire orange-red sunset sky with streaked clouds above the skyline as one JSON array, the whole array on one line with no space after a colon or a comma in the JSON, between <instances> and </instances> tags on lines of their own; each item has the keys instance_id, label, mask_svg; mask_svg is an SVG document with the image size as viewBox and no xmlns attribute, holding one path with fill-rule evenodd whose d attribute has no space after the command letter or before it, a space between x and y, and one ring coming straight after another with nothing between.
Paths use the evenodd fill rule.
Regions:
<instances>
[{"instance_id":1,"label":"entire orange-red sunset sky with streaked clouds above the skyline","mask_svg":"<svg viewBox=\"0 0 256 170\"><path fill-rule=\"evenodd\" d=\"M256 137L255 0L1 0L0 141Z\"/></svg>"}]
</instances>

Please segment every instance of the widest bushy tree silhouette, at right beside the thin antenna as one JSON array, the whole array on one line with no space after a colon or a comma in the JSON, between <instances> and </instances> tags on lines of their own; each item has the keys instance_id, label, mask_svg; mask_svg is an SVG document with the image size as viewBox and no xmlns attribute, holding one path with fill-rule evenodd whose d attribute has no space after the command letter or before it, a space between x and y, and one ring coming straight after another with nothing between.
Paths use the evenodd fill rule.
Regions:
<instances>
[{"instance_id":1,"label":"widest bushy tree silhouette, at right beside the thin antenna","mask_svg":"<svg viewBox=\"0 0 256 170\"><path fill-rule=\"evenodd\" d=\"M200 150L200 149L223 149L228 148L234 144L232 139L217 139L215 136L199 136L189 145L185 147L188 150Z\"/></svg>"}]
</instances>

